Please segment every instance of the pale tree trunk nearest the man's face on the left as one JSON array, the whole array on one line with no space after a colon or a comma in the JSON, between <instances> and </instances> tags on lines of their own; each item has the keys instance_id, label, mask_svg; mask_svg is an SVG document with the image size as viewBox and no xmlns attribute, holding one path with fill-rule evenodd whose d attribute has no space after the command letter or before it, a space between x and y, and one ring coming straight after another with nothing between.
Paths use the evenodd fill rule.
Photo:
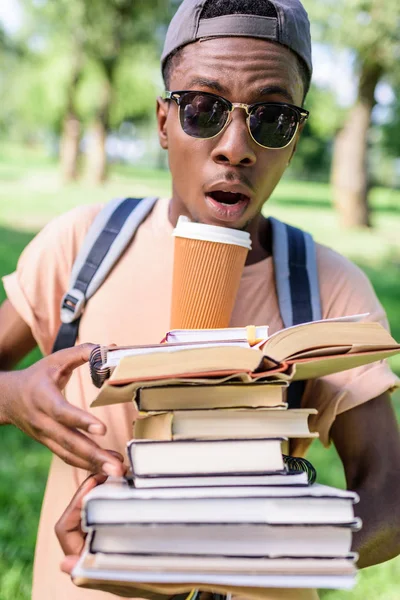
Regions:
<instances>
[{"instance_id":1,"label":"pale tree trunk nearest the man's face on the left","mask_svg":"<svg viewBox=\"0 0 400 600\"><path fill-rule=\"evenodd\" d=\"M113 96L112 68L106 68L100 103L94 122L90 128L86 155L86 177L93 185L99 185L107 179L106 141L110 129L110 109Z\"/></svg>"}]
</instances>

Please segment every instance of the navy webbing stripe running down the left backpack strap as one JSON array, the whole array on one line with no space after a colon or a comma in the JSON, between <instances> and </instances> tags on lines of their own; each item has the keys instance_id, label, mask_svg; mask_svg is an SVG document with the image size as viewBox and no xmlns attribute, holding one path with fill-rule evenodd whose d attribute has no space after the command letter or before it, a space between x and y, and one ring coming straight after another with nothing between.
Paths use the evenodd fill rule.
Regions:
<instances>
[{"instance_id":1,"label":"navy webbing stripe running down the left backpack strap","mask_svg":"<svg viewBox=\"0 0 400 600\"><path fill-rule=\"evenodd\" d=\"M84 296L86 295L90 282L107 255L115 238L121 231L126 219L141 200L142 198L125 198L111 214L106 226L100 232L74 283L74 288L81 291ZM71 308L71 306L73 307L73 299L68 300L67 296L64 300L63 307L68 309ZM75 345L79 332L79 323L80 317L71 323L61 324L52 352L57 352L57 350L62 350L63 348L71 348Z\"/></svg>"}]
</instances>

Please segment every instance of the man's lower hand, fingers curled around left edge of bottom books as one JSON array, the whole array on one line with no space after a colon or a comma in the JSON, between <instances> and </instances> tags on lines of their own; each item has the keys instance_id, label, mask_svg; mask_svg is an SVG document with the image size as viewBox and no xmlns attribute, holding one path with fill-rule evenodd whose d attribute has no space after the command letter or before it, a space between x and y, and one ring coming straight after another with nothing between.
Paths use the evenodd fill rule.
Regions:
<instances>
[{"instance_id":1,"label":"man's lower hand, fingers curled around left edge of bottom books","mask_svg":"<svg viewBox=\"0 0 400 600\"><path fill-rule=\"evenodd\" d=\"M99 483L104 483L105 475L90 475L78 488L71 502L55 526L55 533L66 555L79 555L85 536L81 529L81 510L83 498ZM72 567L71 567L72 568ZM66 571L69 572L69 571Z\"/></svg>"}]
</instances>

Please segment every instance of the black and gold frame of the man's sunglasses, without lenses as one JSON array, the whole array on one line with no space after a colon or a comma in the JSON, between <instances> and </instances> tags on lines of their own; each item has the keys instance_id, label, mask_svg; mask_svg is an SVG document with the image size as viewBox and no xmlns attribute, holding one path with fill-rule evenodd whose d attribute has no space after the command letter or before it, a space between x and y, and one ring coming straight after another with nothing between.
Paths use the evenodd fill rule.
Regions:
<instances>
[{"instance_id":1,"label":"black and gold frame of the man's sunglasses, without lenses","mask_svg":"<svg viewBox=\"0 0 400 600\"><path fill-rule=\"evenodd\" d=\"M227 116L227 119L226 119L222 129L220 131L218 131L218 133L216 133L215 135L211 135L210 137L199 137L199 136L190 135L190 133L187 133L183 129L183 126L182 126L181 103L180 103L182 96L184 94L196 94L196 93L204 94L205 96L211 96L212 98L216 98L217 100L222 100L227 105L227 108L228 108L228 116ZM188 135L189 137L194 137L194 138L200 139L200 140L212 140L215 137L217 137L218 135L220 135L221 133L223 133L225 131L225 129L228 127L229 123L232 121L232 113L235 110L235 108L241 108L244 111L246 111L246 114L247 114L246 125L247 125L247 129L248 129L251 139L253 140L253 142L255 142L261 148L266 148L268 150L284 150L285 148L290 146L290 144L293 142L293 140L296 137L296 133L297 133L300 125L302 125L308 119L309 114L310 114L309 111L306 110L305 108L300 108L298 106L295 106L294 104L289 104L288 102L255 102L254 104L245 104L243 102L231 102L230 100L227 100L223 96L218 96L217 94L212 94L211 92L202 92L202 91L197 91L197 90L181 90L181 91L173 91L173 92L166 91L164 100L174 100L174 102L176 103L176 105L178 107L178 117L179 117L179 122L182 127L182 131L184 133L186 133L186 135ZM271 146L264 146L264 144L260 144L260 142L258 142L254 138L254 136L251 132L250 116L251 116L253 109L257 106L265 106L265 105L267 105L267 106L268 105L287 106L287 107L291 108L292 110L294 110L294 112L296 112L298 114L299 120L296 123L296 129L294 130L292 137L290 138L288 143L285 144L285 146L279 146L279 148L274 148Z\"/></svg>"}]
</instances>

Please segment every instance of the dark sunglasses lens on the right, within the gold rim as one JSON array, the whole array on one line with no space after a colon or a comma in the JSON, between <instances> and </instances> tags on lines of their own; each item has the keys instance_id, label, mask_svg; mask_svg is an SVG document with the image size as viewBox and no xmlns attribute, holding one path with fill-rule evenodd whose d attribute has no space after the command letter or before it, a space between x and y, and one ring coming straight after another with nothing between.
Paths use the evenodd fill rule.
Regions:
<instances>
[{"instance_id":1,"label":"dark sunglasses lens on the right, within the gold rim","mask_svg":"<svg viewBox=\"0 0 400 600\"><path fill-rule=\"evenodd\" d=\"M267 148L284 148L293 138L299 122L290 106L257 106L250 115L250 131L256 142Z\"/></svg>"}]
</instances>

